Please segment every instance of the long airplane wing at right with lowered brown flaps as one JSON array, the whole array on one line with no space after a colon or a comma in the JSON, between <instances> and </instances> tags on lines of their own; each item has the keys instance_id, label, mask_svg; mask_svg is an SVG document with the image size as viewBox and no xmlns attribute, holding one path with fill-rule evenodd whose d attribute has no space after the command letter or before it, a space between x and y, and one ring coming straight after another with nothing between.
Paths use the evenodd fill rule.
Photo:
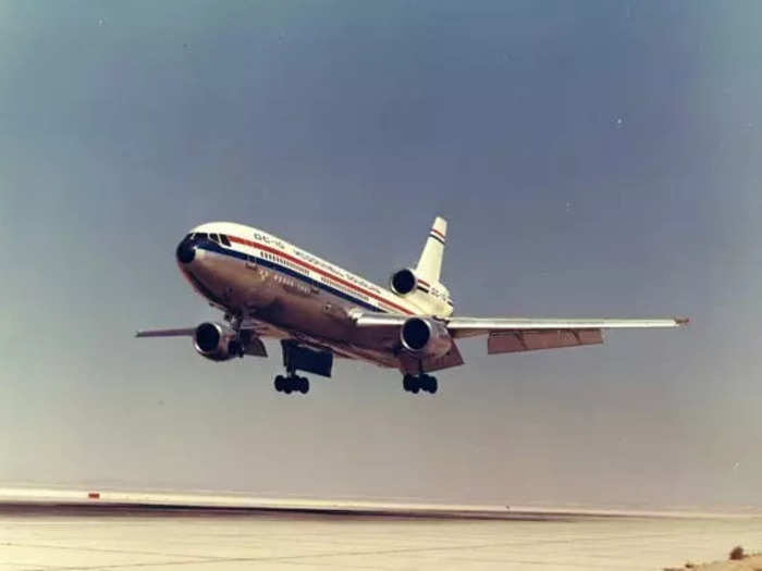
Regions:
<instances>
[{"instance_id":1,"label":"long airplane wing at right with lowered brown flaps","mask_svg":"<svg viewBox=\"0 0 762 571\"><path fill-rule=\"evenodd\" d=\"M402 314L362 313L355 318L359 327L402 326ZM678 327L686 318L668 319L529 319L466 318L443 320L453 338L487 335L487 352L518 352L537 349L578 347L603 343L603 330Z\"/></svg>"}]
</instances>

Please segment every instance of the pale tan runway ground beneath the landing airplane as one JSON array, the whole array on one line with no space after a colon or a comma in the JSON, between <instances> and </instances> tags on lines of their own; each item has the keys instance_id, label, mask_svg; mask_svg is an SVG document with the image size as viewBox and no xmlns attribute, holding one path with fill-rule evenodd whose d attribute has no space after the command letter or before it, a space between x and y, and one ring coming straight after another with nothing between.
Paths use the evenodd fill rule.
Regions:
<instances>
[{"instance_id":1,"label":"pale tan runway ground beneath the landing airplane","mask_svg":"<svg viewBox=\"0 0 762 571\"><path fill-rule=\"evenodd\" d=\"M759 516L410 511L5 501L0 570L653 570L762 547Z\"/></svg>"}]
</instances>

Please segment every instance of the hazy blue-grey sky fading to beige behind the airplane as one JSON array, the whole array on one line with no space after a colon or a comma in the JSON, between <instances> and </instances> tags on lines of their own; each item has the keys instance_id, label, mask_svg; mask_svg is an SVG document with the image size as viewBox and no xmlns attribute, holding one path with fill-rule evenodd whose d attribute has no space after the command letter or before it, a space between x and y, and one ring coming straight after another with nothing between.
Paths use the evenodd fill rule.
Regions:
<instances>
[{"instance_id":1,"label":"hazy blue-grey sky fading to beige behind the airplane","mask_svg":"<svg viewBox=\"0 0 762 571\"><path fill-rule=\"evenodd\" d=\"M760 505L757 2L0 3L0 480ZM377 283L450 221L471 315L689 315L486 356L435 398L211 363L187 228Z\"/></svg>"}]
</instances>

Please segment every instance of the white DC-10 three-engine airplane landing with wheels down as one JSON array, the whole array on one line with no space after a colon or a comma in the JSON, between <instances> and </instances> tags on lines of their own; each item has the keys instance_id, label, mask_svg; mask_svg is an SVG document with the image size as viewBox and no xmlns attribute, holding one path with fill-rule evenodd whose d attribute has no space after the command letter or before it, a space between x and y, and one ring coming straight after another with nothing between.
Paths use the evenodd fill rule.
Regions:
<instances>
[{"instance_id":1,"label":"white DC-10 three-engine airplane landing with wheels down","mask_svg":"<svg viewBox=\"0 0 762 571\"><path fill-rule=\"evenodd\" d=\"M223 312L195 327L138 331L137 337L193 338L212 361L267 357L263 338L280 339L286 375L279 393L309 390L304 371L330 377L333 359L398 369L408 393L435 394L429 373L463 364L457 339L487 337L488 353L603 343L603 330L677 327L686 318L533 319L454 314L440 282L447 223L437 216L415 268L376 285L261 229L232 222L193 228L177 245L177 265L190 286Z\"/></svg>"}]
</instances>

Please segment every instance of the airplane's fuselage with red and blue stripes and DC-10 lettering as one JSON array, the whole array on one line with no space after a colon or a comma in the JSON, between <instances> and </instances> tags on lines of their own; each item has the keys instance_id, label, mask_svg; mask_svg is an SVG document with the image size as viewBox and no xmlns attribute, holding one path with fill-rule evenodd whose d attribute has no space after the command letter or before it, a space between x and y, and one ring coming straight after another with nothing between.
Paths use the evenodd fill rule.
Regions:
<instances>
[{"instance_id":1,"label":"airplane's fuselage with red and blue stripes and DC-10 lettering","mask_svg":"<svg viewBox=\"0 0 762 571\"><path fill-rule=\"evenodd\" d=\"M213 222L192 234L210 239L196 245L189 263L177 262L183 274L213 307L251 319L263 335L397 367L397 331L358 330L353 312L423 313L408 299L267 232ZM432 284L431 293L450 303L444 288Z\"/></svg>"}]
</instances>

